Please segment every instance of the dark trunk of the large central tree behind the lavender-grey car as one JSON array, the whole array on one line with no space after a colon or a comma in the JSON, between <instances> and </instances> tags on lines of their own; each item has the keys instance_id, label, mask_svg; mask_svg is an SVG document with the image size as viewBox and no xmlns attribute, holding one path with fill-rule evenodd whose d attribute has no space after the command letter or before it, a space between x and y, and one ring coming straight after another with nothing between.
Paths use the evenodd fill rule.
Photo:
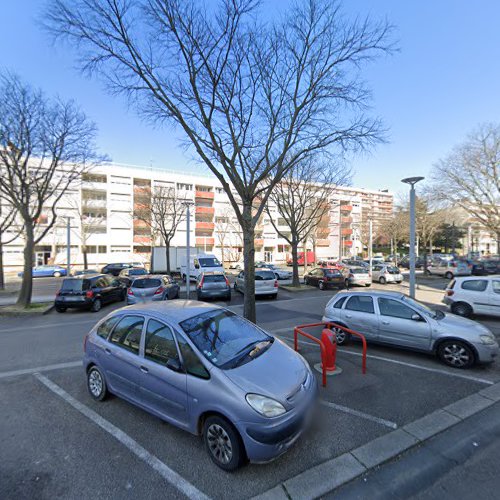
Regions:
<instances>
[{"instance_id":1,"label":"dark trunk of the large central tree behind the lavender-grey car","mask_svg":"<svg viewBox=\"0 0 500 500\"><path fill-rule=\"evenodd\" d=\"M252 222L252 206L243 207L243 262L245 265L245 294L243 298L243 315L256 323L255 308L255 227Z\"/></svg>"}]
</instances>

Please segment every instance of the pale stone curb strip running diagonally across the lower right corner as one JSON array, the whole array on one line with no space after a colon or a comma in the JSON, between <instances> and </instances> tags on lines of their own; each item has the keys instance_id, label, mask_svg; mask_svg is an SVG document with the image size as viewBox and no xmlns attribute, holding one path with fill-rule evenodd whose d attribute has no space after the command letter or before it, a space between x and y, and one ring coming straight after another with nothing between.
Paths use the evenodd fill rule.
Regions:
<instances>
[{"instance_id":1,"label":"pale stone curb strip running diagonally across the lower right corner","mask_svg":"<svg viewBox=\"0 0 500 500\"><path fill-rule=\"evenodd\" d=\"M253 497L253 500L313 500L332 493L454 425L500 402L500 383L419 418L358 448L316 465Z\"/></svg>"}]
</instances>

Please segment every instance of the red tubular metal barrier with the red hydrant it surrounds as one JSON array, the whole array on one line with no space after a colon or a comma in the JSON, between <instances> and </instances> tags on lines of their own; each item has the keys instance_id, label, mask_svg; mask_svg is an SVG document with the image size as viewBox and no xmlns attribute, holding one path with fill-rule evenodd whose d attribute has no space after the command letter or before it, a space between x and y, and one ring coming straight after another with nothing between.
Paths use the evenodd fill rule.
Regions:
<instances>
[{"instance_id":1,"label":"red tubular metal barrier with the red hydrant it surrounds","mask_svg":"<svg viewBox=\"0 0 500 500\"><path fill-rule=\"evenodd\" d=\"M313 327L318 327L322 326L324 328L327 328L328 330L323 330L322 335L321 335L321 340L316 338L314 335L311 335L305 331L303 331L304 328L313 328ZM336 335L335 332L333 332L331 329L333 328L338 328L339 330L342 330L350 335L354 335L356 337L359 337L361 339L361 342L363 344L363 355L362 355L362 364L361 364L361 372L363 375L366 374L366 338L363 334L359 332L355 332L354 330L351 330L349 328L346 328L345 326L339 325L337 323L333 322L327 322L327 323L311 323L308 325L299 325L296 326L293 330L293 340L294 340L294 349L295 351L299 351L299 340L298 336L299 334L308 338L309 340L312 340L316 344L319 345L320 350L321 350L321 372L322 372L322 382L323 382L323 387L326 387L326 374L328 371L333 372L335 371L335 361L337 357L337 340L336 340ZM331 332L333 334L333 344L329 346L327 342L330 342L327 340L329 338L328 332Z\"/></svg>"}]
</instances>

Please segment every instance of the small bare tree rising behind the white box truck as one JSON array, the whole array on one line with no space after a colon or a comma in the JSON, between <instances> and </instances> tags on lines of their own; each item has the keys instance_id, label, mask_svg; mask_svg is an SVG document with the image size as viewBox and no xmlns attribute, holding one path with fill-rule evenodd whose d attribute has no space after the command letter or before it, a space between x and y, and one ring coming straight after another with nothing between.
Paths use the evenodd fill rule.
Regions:
<instances>
[{"instance_id":1,"label":"small bare tree rising behind the white box truck","mask_svg":"<svg viewBox=\"0 0 500 500\"><path fill-rule=\"evenodd\" d=\"M187 198L178 196L174 187L155 186L151 193L150 205L139 205L134 210L134 218L140 220L151 231L154 241L161 237L165 244L167 273L170 274L170 244L180 223L186 219Z\"/></svg>"}]
</instances>

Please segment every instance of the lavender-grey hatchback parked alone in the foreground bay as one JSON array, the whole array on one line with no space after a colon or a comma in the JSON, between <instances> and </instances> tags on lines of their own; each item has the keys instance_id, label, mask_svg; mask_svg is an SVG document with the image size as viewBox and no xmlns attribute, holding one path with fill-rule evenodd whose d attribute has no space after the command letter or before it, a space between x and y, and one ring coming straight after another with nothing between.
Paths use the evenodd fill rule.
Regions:
<instances>
[{"instance_id":1,"label":"lavender-grey hatchback parked alone in the foreground bay","mask_svg":"<svg viewBox=\"0 0 500 500\"><path fill-rule=\"evenodd\" d=\"M226 471L286 452L310 420L317 397L316 378L299 354L206 303L113 311L84 345L93 399L113 393L201 436L211 460Z\"/></svg>"}]
</instances>

